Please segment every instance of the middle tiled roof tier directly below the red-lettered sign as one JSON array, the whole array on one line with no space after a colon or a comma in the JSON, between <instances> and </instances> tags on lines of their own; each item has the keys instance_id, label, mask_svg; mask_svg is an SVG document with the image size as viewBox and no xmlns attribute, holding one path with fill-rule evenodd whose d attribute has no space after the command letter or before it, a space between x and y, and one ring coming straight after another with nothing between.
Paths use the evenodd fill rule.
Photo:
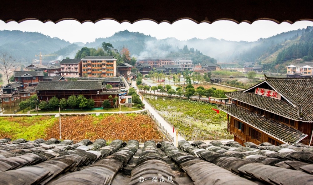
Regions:
<instances>
[{"instance_id":1,"label":"middle tiled roof tier directly below the red-lettered sign","mask_svg":"<svg viewBox=\"0 0 313 185\"><path fill-rule=\"evenodd\" d=\"M252 92L235 91L225 93L226 96L232 99L236 99L240 102L247 103L257 108L264 109L268 112L275 113L285 118L293 120L300 120L297 107L292 106L286 100L278 100L274 98L268 98L260 96Z\"/></svg>"}]
</instances>

